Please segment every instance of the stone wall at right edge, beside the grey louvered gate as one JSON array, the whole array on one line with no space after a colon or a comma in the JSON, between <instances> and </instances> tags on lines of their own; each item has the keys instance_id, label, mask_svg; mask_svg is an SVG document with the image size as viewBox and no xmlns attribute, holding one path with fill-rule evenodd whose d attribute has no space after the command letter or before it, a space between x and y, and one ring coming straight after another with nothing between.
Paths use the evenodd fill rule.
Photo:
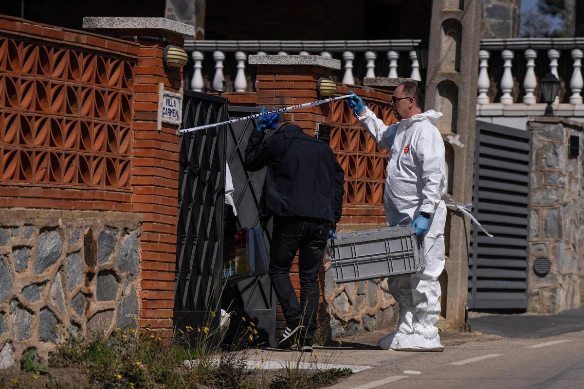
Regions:
<instances>
[{"instance_id":1,"label":"stone wall at right edge, beside the grey louvered gate","mask_svg":"<svg viewBox=\"0 0 584 389\"><path fill-rule=\"evenodd\" d=\"M528 311L558 313L584 304L584 124L538 118L531 155L530 267ZM578 157L569 158L569 136L579 136ZM550 272L533 271L538 257Z\"/></svg>"}]
</instances>

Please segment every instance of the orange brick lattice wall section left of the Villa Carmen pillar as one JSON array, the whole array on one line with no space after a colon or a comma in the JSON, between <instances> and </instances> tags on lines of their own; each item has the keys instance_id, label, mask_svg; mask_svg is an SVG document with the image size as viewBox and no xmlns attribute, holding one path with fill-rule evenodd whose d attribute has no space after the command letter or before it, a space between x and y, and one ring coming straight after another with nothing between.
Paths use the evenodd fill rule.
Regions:
<instances>
[{"instance_id":1,"label":"orange brick lattice wall section left of the Villa Carmen pillar","mask_svg":"<svg viewBox=\"0 0 584 389\"><path fill-rule=\"evenodd\" d=\"M0 206L131 210L138 45L0 17Z\"/></svg>"}]
</instances>

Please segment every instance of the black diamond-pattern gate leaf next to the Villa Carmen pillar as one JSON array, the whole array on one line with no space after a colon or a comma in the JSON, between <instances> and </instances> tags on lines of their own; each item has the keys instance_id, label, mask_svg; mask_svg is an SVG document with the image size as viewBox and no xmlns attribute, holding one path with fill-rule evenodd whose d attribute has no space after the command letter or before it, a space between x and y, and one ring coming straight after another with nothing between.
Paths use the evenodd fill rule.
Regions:
<instances>
[{"instance_id":1,"label":"black diamond-pattern gate leaf next to the Villa Carmen pillar","mask_svg":"<svg viewBox=\"0 0 584 389\"><path fill-rule=\"evenodd\" d=\"M227 118L227 99L185 91L182 128ZM225 127L182 135L176 237L175 325L201 327L217 310L223 258ZM218 325L218 315L215 317Z\"/></svg>"}]
</instances>

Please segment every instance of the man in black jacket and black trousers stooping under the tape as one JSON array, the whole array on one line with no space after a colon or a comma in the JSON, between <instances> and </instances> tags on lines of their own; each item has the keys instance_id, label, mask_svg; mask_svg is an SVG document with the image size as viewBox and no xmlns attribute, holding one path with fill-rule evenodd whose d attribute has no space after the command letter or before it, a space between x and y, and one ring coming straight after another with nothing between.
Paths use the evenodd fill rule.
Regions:
<instances>
[{"instance_id":1,"label":"man in black jacket and black trousers stooping under the tape","mask_svg":"<svg viewBox=\"0 0 584 389\"><path fill-rule=\"evenodd\" d=\"M278 346L312 351L319 302L318 271L326 241L334 237L343 209L345 173L331 148L300 127L284 123L263 141L265 128L276 129L277 114L262 116L245 149L245 169L267 166L260 199L260 218L274 218L270 278L280 302L286 330ZM298 255L300 303L290 281Z\"/></svg>"}]
</instances>

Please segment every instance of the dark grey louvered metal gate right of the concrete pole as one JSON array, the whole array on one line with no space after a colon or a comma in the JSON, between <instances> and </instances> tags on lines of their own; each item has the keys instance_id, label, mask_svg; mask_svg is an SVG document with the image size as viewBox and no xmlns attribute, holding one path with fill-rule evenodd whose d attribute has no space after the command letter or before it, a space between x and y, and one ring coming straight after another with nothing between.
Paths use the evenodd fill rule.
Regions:
<instances>
[{"instance_id":1,"label":"dark grey louvered metal gate right of the concrete pole","mask_svg":"<svg viewBox=\"0 0 584 389\"><path fill-rule=\"evenodd\" d=\"M477 121L471 227L470 309L526 309L531 132Z\"/></svg>"}]
</instances>

